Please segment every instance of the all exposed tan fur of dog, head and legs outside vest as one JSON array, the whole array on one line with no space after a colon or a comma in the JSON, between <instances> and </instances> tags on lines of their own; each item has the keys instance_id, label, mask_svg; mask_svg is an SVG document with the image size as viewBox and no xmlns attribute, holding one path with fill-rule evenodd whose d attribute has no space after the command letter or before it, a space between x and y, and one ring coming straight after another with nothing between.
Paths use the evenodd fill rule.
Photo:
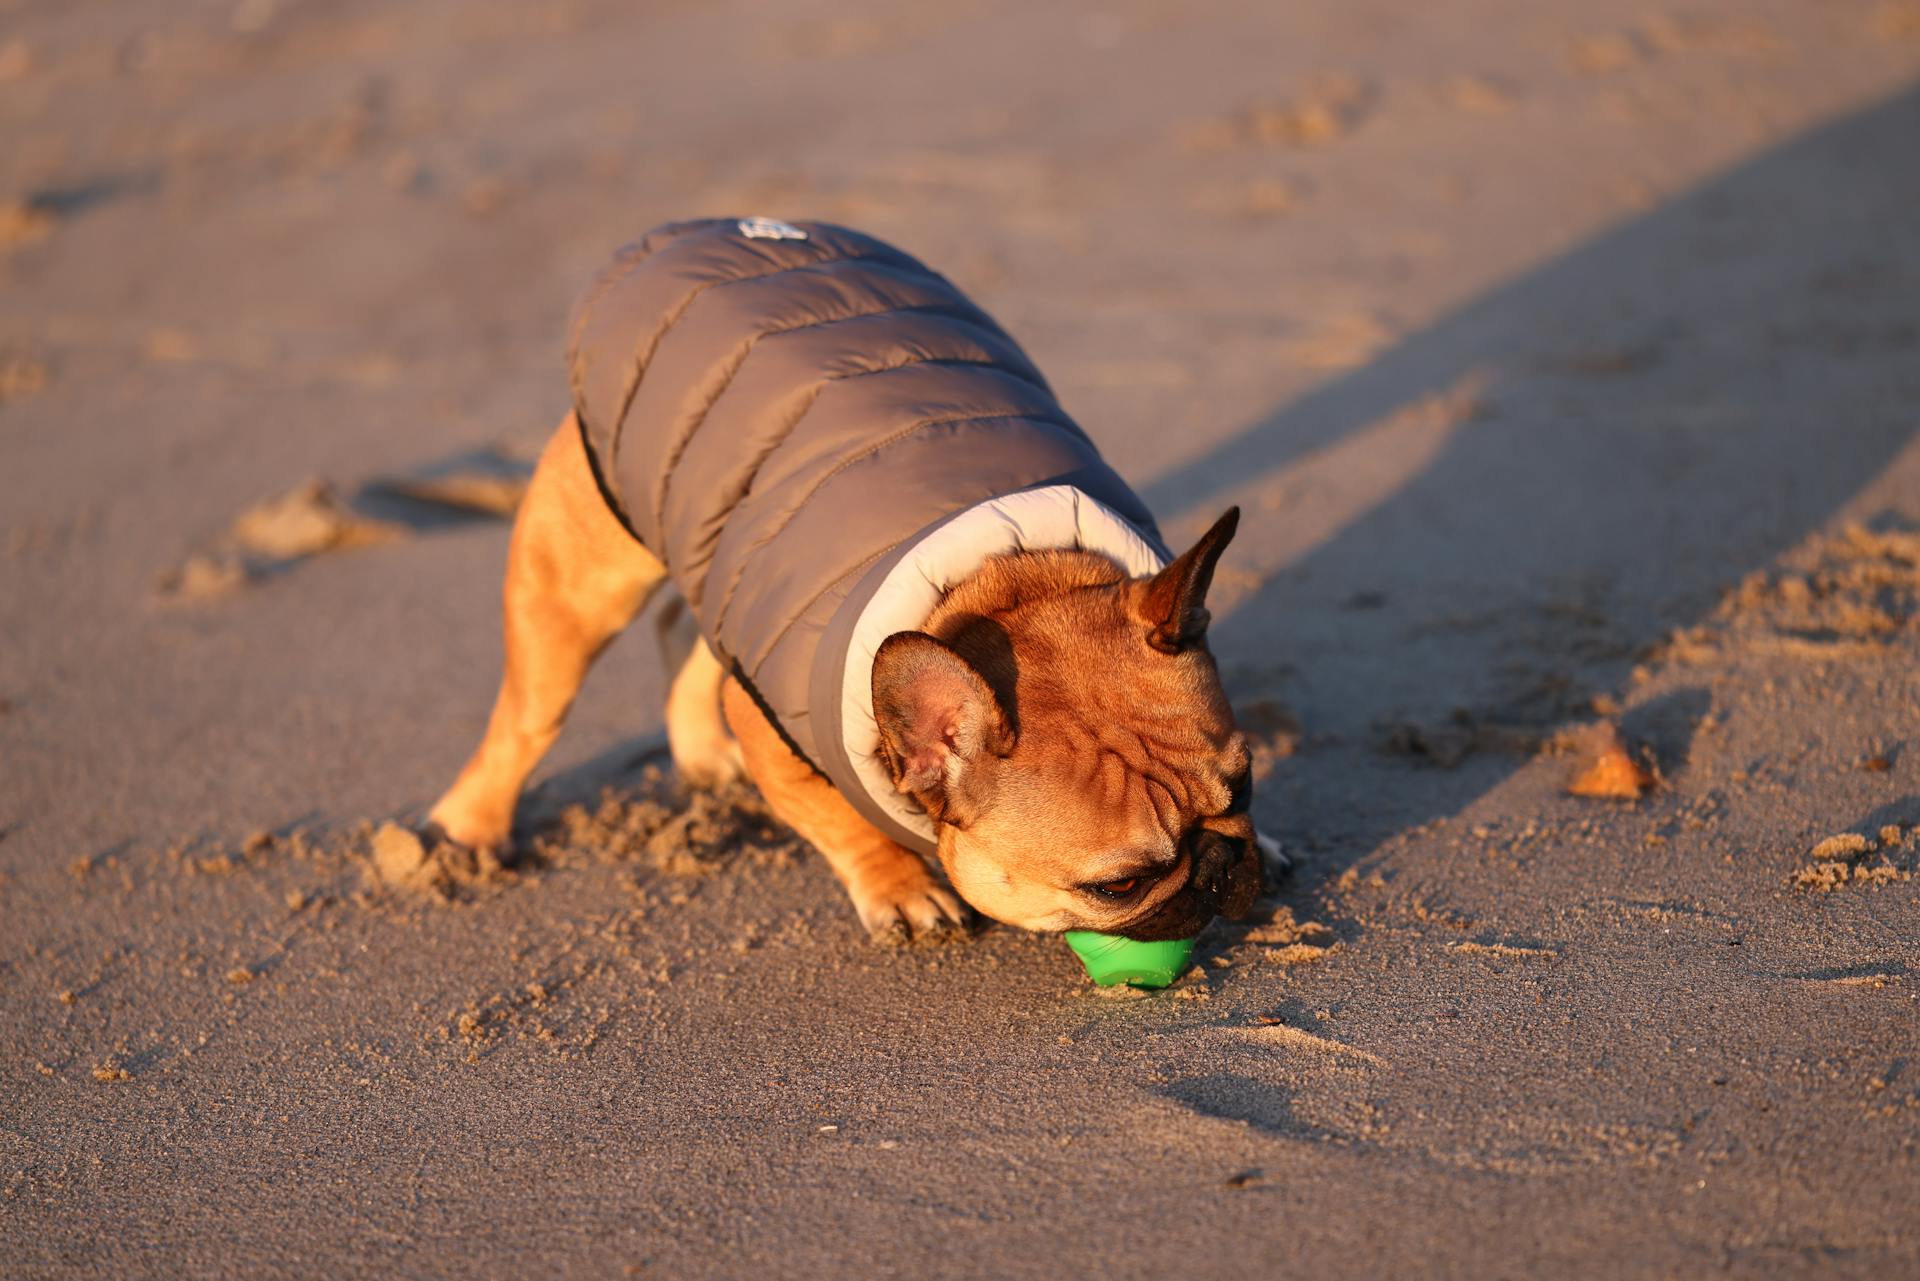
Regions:
<instances>
[{"instance_id":1,"label":"all exposed tan fur of dog, head and legs outside vest","mask_svg":"<svg viewBox=\"0 0 1920 1281\"><path fill-rule=\"evenodd\" d=\"M1244 805L1233 805L1246 743L1198 643L1200 595L1231 536L1223 526L1227 534L1210 534L1217 545L1202 540L1152 580L1129 580L1089 553L995 557L922 634L881 647L874 689L883 751L899 787L937 820L939 858L975 908L1033 930L1125 931L1192 895L1194 832L1252 851ZM515 520L507 665L486 737L430 810L432 824L463 845L509 853L520 789L588 666L664 580L660 561L607 509L568 417ZM684 618L662 611L662 622L672 647ZM666 736L689 786L745 770L826 855L876 939L964 926L966 908L927 864L810 770L705 641L680 649ZM1252 853L1236 864L1221 910L1244 910L1258 889L1258 872L1248 889L1248 860L1258 866ZM1129 876L1142 889L1125 901L1091 889Z\"/></svg>"}]
</instances>

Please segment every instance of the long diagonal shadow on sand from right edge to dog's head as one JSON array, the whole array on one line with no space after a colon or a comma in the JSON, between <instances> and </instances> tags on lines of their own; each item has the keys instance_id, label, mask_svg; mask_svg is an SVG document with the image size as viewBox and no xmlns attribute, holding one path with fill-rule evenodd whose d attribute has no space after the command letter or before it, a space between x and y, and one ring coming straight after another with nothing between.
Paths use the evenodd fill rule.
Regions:
<instances>
[{"instance_id":1,"label":"long diagonal shadow on sand from right edge to dog's head","mask_svg":"<svg viewBox=\"0 0 1920 1281\"><path fill-rule=\"evenodd\" d=\"M1350 745L1528 684L1565 714L1828 522L1920 426L1916 136L1908 88L1784 142L1156 476L1142 494L1175 528L1246 507L1229 563L1296 549L1217 611L1233 693L1283 686ZM1346 519L1300 501L1317 453L1463 382L1480 407L1382 499ZM1261 810L1354 853L1513 768L1336 755L1284 762L1294 787ZM1342 786L1356 764L1375 778Z\"/></svg>"}]
</instances>

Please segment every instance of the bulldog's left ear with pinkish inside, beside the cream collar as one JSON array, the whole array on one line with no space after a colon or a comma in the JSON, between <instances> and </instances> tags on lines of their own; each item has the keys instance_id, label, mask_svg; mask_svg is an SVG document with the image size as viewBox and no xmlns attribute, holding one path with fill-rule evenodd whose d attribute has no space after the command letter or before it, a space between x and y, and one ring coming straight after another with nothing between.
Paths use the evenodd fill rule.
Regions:
<instances>
[{"instance_id":1,"label":"bulldog's left ear with pinkish inside, beside the cream collar","mask_svg":"<svg viewBox=\"0 0 1920 1281\"><path fill-rule=\"evenodd\" d=\"M935 816L970 764L1014 749L987 680L925 632L895 632L874 655L874 718L895 786Z\"/></svg>"}]
</instances>

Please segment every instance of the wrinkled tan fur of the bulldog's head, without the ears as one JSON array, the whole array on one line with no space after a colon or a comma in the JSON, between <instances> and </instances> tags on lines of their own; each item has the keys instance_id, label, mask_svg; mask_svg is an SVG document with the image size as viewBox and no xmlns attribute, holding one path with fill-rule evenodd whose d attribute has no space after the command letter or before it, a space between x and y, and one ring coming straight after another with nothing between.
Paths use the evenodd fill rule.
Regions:
<instances>
[{"instance_id":1,"label":"wrinkled tan fur of the bulldog's head, without the ears","mask_svg":"<svg viewBox=\"0 0 1920 1281\"><path fill-rule=\"evenodd\" d=\"M939 843L948 880L996 920L1119 933L1183 885L1188 826L1252 839L1246 814L1225 814L1252 757L1213 661L1152 649L1146 595L1098 555L996 557L924 624L1018 709L1012 751L970 780L991 805L948 814L964 822ZM1158 882L1125 905L1079 889L1148 870Z\"/></svg>"}]
</instances>

